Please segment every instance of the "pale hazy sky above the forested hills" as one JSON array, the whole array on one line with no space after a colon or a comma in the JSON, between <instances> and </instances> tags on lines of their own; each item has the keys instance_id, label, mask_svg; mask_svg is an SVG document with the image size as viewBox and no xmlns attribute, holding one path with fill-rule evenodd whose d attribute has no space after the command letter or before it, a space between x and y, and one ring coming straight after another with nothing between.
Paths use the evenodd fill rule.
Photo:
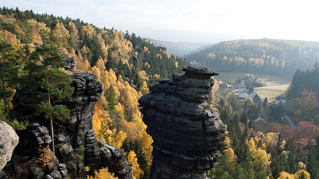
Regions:
<instances>
[{"instance_id":1,"label":"pale hazy sky above the forested hills","mask_svg":"<svg viewBox=\"0 0 319 179\"><path fill-rule=\"evenodd\" d=\"M319 41L315 0L1 0L0 6L79 18L164 41Z\"/></svg>"}]
</instances>

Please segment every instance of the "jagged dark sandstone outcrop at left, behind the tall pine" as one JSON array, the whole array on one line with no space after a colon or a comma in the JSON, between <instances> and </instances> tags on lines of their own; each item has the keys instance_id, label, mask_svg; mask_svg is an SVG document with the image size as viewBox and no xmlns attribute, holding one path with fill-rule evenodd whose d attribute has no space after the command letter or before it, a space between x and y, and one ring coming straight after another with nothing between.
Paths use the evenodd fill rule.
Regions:
<instances>
[{"instance_id":1,"label":"jagged dark sandstone outcrop at left, behind the tall pine","mask_svg":"<svg viewBox=\"0 0 319 179\"><path fill-rule=\"evenodd\" d=\"M66 58L66 70L72 74L74 59ZM29 178L85 178L85 166L90 167L88 174L101 167L108 167L121 179L133 179L132 164L120 149L106 144L98 144L92 129L94 103L99 101L103 88L94 74L83 72L70 76L74 93L62 104L70 110L70 120L54 121L55 155L50 167L31 161ZM34 116L34 104L30 103L28 89L18 91L12 103L11 117L18 120L28 119L30 124L25 131L19 132L19 146L15 154L28 156L29 160L38 158L38 148L46 148L52 141L45 126L48 121ZM54 100L52 100L54 101ZM50 149L48 149L51 152ZM20 157L21 158L21 157ZM17 163L18 160L17 160ZM17 166L19 164L16 164ZM18 168L18 167L15 167ZM21 172L20 172L21 173ZM22 176L21 176L22 177Z\"/></svg>"}]
</instances>

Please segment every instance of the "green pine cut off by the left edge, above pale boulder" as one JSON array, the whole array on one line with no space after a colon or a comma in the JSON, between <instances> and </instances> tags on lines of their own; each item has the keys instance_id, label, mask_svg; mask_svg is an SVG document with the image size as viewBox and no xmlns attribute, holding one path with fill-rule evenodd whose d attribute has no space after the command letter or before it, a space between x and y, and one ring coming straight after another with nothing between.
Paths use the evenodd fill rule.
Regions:
<instances>
[{"instance_id":1,"label":"green pine cut off by the left edge, above pale boulder","mask_svg":"<svg viewBox=\"0 0 319 179\"><path fill-rule=\"evenodd\" d=\"M5 102L5 111L7 119L9 119L9 107L8 98L13 95L13 91L8 90L8 87L12 87L15 84L17 78L18 68L16 67L16 61L14 54L14 48L8 41L0 41L0 73L2 80L2 91L0 92L0 98Z\"/></svg>"}]
</instances>

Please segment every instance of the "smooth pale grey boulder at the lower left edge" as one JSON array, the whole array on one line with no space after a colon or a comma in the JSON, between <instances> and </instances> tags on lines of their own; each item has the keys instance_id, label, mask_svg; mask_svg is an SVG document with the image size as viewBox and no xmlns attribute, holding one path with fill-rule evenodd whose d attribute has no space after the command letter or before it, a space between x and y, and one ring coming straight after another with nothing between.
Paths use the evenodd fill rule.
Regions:
<instances>
[{"instance_id":1,"label":"smooth pale grey boulder at the lower left edge","mask_svg":"<svg viewBox=\"0 0 319 179\"><path fill-rule=\"evenodd\" d=\"M0 120L0 171L10 161L14 148L19 143L19 137L14 129Z\"/></svg>"}]
</instances>

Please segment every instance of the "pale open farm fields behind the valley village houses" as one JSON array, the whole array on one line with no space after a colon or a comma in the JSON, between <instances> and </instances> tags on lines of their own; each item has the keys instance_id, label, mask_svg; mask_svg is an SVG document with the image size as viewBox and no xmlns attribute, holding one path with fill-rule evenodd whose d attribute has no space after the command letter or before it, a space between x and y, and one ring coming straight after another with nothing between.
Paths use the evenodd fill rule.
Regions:
<instances>
[{"instance_id":1,"label":"pale open farm fields behind the valley village houses","mask_svg":"<svg viewBox=\"0 0 319 179\"><path fill-rule=\"evenodd\" d=\"M239 76L243 77L246 73L219 73L219 76L214 76L217 80L222 80L224 83L227 81L234 82ZM286 90L291 83L292 77L286 76L271 76L271 75L259 75L254 74L254 77L266 86L256 87L255 92L260 96L261 99L267 97L268 102L273 102L278 96L285 96Z\"/></svg>"}]
</instances>

